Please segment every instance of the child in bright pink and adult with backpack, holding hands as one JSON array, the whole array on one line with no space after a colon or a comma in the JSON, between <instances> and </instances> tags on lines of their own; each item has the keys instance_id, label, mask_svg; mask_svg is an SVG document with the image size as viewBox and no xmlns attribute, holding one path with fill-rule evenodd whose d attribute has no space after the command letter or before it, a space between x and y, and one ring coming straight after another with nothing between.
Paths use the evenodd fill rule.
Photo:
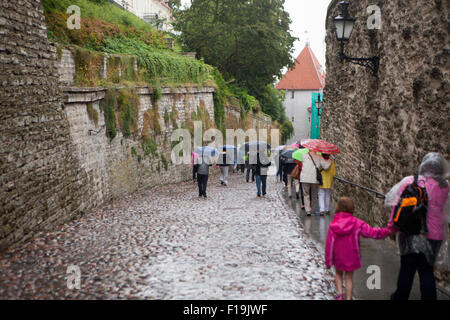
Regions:
<instances>
[{"instance_id":1,"label":"child in bright pink and adult with backpack, holding hands","mask_svg":"<svg viewBox=\"0 0 450 320\"><path fill-rule=\"evenodd\" d=\"M359 238L384 239L394 234L400 251L400 271L397 289L391 299L409 298L416 272L419 273L422 300L437 299L433 268L439 250L448 237L445 207L450 190L447 181L449 165L440 154L429 153L423 158L418 171L419 175L405 177L386 195L385 205L392 209L385 228L372 228L354 217L355 204L351 198L339 199L325 245L325 264L327 268L334 266L336 271L336 300L352 299L353 272L362 266ZM411 198L404 198L404 191L412 184L424 188L428 195L425 219L420 221L418 233L401 232L396 225L401 209L405 208L403 204L411 201ZM418 210L418 206L413 207L414 211Z\"/></svg>"}]
</instances>

